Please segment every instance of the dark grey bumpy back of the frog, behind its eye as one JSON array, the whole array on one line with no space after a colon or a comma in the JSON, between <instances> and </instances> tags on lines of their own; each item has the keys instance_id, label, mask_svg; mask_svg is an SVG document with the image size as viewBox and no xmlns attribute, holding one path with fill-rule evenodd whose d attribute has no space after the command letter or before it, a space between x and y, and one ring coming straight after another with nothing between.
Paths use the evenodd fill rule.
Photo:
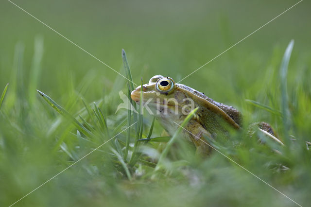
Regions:
<instances>
[{"instance_id":1,"label":"dark grey bumpy back of the frog, behind its eye","mask_svg":"<svg viewBox=\"0 0 311 207\"><path fill-rule=\"evenodd\" d=\"M241 113L234 107L229 106L229 105L225 105L219 102L214 101L211 98L208 98L204 93L201 93L189 86L185 86L182 84L178 84L178 87L183 88L185 90L190 91L192 94L199 96L205 100L207 100L209 103L214 104L216 106L218 106L220 109L222 109L229 117L231 117L231 119L233 119L233 121L235 121L239 126L241 126L242 124L242 115Z\"/></svg>"}]
</instances>

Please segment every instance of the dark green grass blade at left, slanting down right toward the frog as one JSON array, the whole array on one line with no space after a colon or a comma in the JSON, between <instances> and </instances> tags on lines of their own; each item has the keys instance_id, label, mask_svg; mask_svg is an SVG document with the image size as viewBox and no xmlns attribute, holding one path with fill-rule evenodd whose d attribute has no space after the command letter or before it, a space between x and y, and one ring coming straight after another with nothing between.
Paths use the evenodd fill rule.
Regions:
<instances>
[{"instance_id":1,"label":"dark green grass blade at left, slanting down right toward the frog","mask_svg":"<svg viewBox=\"0 0 311 207\"><path fill-rule=\"evenodd\" d=\"M72 121L73 125L77 127L77 129L86 135L86 137L94 137L94 135L88 131L79 121L77 121L73 116L69 114L62 106L58 105L56 102L54 102L49 96L45 95L41 91L37 90L37 92L40 94L40 96L54 108L58 113Z\"/></svg>"}]
</instances>

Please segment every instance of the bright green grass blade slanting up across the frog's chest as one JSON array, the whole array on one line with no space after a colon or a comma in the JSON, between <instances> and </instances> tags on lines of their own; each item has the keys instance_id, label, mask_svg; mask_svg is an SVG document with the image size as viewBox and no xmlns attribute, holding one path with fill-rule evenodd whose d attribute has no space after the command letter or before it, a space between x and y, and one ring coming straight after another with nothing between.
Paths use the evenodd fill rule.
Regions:
<instances>
[{"instance_id":1,"label":"bright green grass blade slanting up across the frog's chest","mask_svg":"<svg viewBox=\"0 0 311 207\"><path fill-rule=\"evenodd\" d=\"M170 141L166 144L166 147L164 148L163 152L160 155L160 158L157 162L157 165L155 167L155 172L161 169L161 166L163 164L164 159L166 158L167 154L169 153L173 143L175 142L176 138L178 137L181 130L186 126L186 124L190 121L190 119L193 117L195 112L198 110L198 107L193 109L190 114L185 118L185 120L181 123L181 125L178 127L177 131L173 135L173 137L170 139Z\"/></svg>"}]
</instances>

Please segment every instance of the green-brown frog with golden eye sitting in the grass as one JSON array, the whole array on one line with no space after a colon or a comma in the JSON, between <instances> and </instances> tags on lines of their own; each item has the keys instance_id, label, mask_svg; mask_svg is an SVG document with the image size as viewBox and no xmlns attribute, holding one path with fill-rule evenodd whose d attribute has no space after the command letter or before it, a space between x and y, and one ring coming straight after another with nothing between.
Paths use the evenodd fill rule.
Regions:
<instances>
[{"instance_id":1,"label":"green-brown frog with golden eye sitting in the grass","mask_svg":"<svg viewBox=\"0 0 311 207\"><path fill-rule=\"evenodd\" d=\"M198 154L210 154L213 147L208 139L229 137L230 131L242 128L242 114L236 108L216 102L189 86L175 83L173 78L155 75L148 84L142 85L143 103L139 103L140 93L141 86L138 86L131 92L131 99L154 115L170 136L173 136L188 114L198 108L180 135L195 145ZM254 124L267 135L276 138L270 124Z\"/></svg>"}]
</instances>

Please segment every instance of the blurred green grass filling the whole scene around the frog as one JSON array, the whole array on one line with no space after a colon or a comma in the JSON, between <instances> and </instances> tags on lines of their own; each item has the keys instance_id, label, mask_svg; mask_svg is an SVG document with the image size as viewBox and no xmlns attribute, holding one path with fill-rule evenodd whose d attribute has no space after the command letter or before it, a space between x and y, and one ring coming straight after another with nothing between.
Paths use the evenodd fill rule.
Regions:
<instances>
[{"instance_id":1,"label":"blurred green grass filling the whole scene around the frog","mask_svg":"<svg viewBox=\"0 0 311 207\"><path fill-rule=\"evenodd\" d=\"M297 1L14 2L126 77L131 71L135 83L141 77L146 83L155 74L181 79ZM115 114L119 91L129 95L132 89L124 78L8 1L0 5L1 91L9 82L0 109L0 206L9 206L135 120L128 120L125 110ZM279 149L282 155L248 139L246 131L219 147L302 206L309 206L311 191L305 143L311 134L309 8L303 1L182 82L239 108L244 126L266 121L296 138ZM295 46L281 79L291 39ZM122 48L131 66L127 72ZM77 131L35 89L95 136ZM291 118L286 127L278 113L284 115L282 104L288 104ZM171 148L160 176L151 179L165 143L139 141L141 156L129 165L134 141L149 137L152 117L145 115L138 125L141 134L131 127L15 206L296 206L222 155L203 160L183 142ZM161 132L155 121L150 138ZM234 147L237 143L243 147ZM126 144L128 155L122 156Z\"/></svg>"}]
</instances>

